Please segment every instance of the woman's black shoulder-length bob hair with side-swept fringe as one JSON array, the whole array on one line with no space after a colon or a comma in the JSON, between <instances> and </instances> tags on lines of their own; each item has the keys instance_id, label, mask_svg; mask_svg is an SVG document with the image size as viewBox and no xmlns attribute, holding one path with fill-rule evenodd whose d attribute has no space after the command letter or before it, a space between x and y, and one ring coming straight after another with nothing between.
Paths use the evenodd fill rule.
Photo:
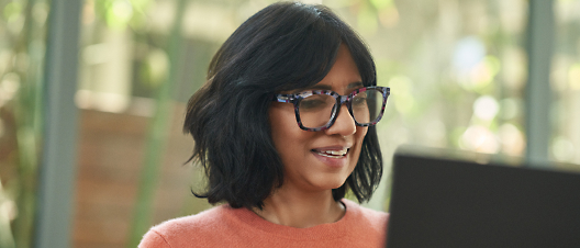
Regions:
<instances>
[{"instance_id":1,"label":"woman's black shoulder-length bob hair with side-swept fringe","mask_svg":"<svg viewBox=\"0 0 580 248\"><path fill-rule=\"evenodd\" d=\"M183 132L196 142L189 160L205 169L208 189L193 194L212 204L263 207L282 185L283 165L268 121L275 93L316 84L331 70L345 44L366 87L376 86L367 46L324 5L274 3L245 21L210 63L204 86L189 100ZM306 131L304 131L306 132ZM346 182L333 189L335 201L348 189L368 201L382 176L375 126L368 127L360 156Z\"/></svg>"}]
</instances>

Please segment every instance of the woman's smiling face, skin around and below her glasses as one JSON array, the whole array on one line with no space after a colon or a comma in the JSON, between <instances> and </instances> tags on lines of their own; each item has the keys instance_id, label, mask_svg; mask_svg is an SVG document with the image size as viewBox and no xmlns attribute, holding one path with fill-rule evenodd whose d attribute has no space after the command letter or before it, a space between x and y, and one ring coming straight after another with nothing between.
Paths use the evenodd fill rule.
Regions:
<instances>
[{"instance_id":1,"label":"woman's smiling face, skin around and below her glasses","mask_svg":"<svg viewBox=\"0 0 580 248\"><path fill-rule=\"evenodd\" d=\"M350 52L341 45L331 71L312 89L328 89L346 95L362 87ZM272 103L269 120L274 145L285 166L282 188L302 191L330 190L343 185L355 169L368 128L355 125L346 104L341 106L336 122L325 131L301 129L297 124L293 104L290 103Z\"/></svg>"}]
</instances>

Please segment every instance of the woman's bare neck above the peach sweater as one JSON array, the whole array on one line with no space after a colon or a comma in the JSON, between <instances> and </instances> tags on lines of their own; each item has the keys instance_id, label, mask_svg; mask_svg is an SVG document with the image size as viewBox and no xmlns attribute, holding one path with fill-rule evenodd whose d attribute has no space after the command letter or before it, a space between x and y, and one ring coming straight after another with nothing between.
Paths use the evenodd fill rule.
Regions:
<instances>
[{"instance_id":1,"label":"woman's bare neck above the peach sweater","mask_svg":"<svg viewBox=\"0 0 580 248\"><path fill-rule=\"evenodd\" d=\"M334 201L331 190L304 193L282 187L264 201L263 210L254 212L275 224L306 228L337 222L345 207Z\"/></svg>"}]
</instances>

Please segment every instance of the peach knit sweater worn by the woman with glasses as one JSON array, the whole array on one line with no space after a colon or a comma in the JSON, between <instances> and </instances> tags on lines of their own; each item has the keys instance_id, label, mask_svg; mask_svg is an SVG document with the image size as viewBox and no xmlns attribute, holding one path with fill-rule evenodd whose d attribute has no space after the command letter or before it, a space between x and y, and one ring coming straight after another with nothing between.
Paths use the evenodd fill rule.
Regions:
<instances>
[{"instance_id":1,"label":"peach knit sweater worn by the woman with glasses","mask_svg":"<svg viewBox=\"0 0 580 248\"><path fill-rule=\"evenodd\" d=\"M138 247L384 247L389 215L342 202L343 218L309 228L277 225L247 208L221 205L153 227Z\"/></svg>"}]
</instances>

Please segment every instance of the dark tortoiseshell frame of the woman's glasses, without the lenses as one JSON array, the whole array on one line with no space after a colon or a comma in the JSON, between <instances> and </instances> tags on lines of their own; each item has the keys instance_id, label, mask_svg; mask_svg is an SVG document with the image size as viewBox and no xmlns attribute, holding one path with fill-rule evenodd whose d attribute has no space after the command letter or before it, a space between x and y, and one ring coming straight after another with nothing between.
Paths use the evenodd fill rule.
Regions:
<instances>
[{"instance_id":1,"label":"dark tortoiseshell frame of the woman's glasses, without the lenses","mask_svg":"<svg viewBox=\"0 0 580 248\"><path fill-rule=\"evenodd\" d=\"M359 123L359 122L357 122L357 120L355 119L355 115L353 113L353 105L352 105L353 104L353 99L358 93L365 92L365 91L368 91L368 90L376 90L376 91L379 91L379 92L382 93L382 103L381 103L381 108L380 108L380 113L378 114L376 120L372 120L369 123ZM357 89L357 90L353 91L352 93L349 93L348 95L341 95L341 94L338 94L338 93L336 93L336 92L334 92L332 90L309 90L309 91L303 91L303 92L295 93L295 94L275 94L272 100L276 101L276 102L293 103L294 104L294 113L295 113L297 122L298 122L298 125L300 126L300 128L304 129L304 131L317 132L317 131L324 131L324 129L331 128L331 126L336 121L336 117L338 116L338 112L342 109L339 106L342 106L344 103L346 103L348 112L350 113L350 116L353 117L353 120L355 121L355 124L357 126L373 126L373 125L376 125L382 119L382 114L384 113L384 106L387 105L387 99L389 98L390 93L391 93L391 89L389 87L376 87L375 86L375 87L365 87L365 88ZM300 101L302 101L302 99L308 98L308 97L313 95L313 94L327 94L327 95L331 95L331 97L333 97L336 100L336 103L333 106L333 112L332 112L331 119L328 120L328 122L325 125L319 126L319 127L305 127L304 125L302 125L302 122L300 121L299 105L300 105Z\"/></svg>"}]
</instances>

